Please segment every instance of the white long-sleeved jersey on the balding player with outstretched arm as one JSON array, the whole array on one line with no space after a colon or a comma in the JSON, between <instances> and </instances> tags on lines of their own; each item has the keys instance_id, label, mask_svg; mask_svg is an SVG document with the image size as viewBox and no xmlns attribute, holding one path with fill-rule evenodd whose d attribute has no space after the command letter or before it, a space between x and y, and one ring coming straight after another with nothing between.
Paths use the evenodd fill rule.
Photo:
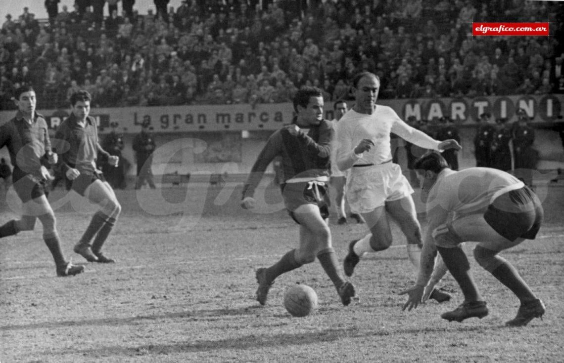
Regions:
<instances>
[{"instance_id":1,"label":"white long-sleeved jersey on the balding player with outstretched arm","mask_svg":"<svg viewBox=\"0 0 564 363\"><path fill-rule=\"evenodd\" d=\"M353 109L347 111L337 123L335 132L337 166L343 171L354 164L377 165L391 160L390 132L425 149L439 150L440 144L403 122L391 107L384 105L377 105L371 115ZM374 146L370 151L356 155L354 148L365 138L372 140Z\"/></svg>"}]
</instances>

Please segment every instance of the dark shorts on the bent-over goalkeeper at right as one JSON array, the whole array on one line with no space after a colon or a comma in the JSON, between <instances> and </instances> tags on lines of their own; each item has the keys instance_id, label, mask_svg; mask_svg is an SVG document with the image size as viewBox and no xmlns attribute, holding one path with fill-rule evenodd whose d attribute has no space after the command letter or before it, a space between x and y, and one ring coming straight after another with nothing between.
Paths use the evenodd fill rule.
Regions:
<instances>
[{"instance_id":1,"label":"dark shorts on the bent-over goalkeeper at right","mask_svg":"<svg viewBox=\"0 0 564 363\"><path fill-rule=\"evenodd\" d=\"M510 241L534 240L543 217L539 198L527 186L500 195L484 213L488 225Z\"/></svg>"}]
</instances>

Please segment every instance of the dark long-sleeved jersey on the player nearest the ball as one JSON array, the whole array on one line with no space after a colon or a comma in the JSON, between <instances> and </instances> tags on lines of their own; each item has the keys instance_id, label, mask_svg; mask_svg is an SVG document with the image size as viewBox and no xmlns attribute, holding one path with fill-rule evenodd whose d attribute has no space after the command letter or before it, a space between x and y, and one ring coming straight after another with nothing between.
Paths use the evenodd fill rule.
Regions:
<instances>
[{"instance_id":1,"label":"dark long-sleeved jersey on the player nearest the ball","mask_svg":"<svg viewBox=\"0 0 564 363\"><path fill-rule=\"evenodd\" d=\"M300 131L292 135L287 128L273 133L258 155L249 177L243 187L243 198L253 196L254 190L261 181L268 164L280 156L283 183L292 178L309 178L314 180L321 176L329 176L331 164L331 141L333 127L331 122L321 120L317 126L311 126L309 131Z\"/></svg>"}]
</instances>

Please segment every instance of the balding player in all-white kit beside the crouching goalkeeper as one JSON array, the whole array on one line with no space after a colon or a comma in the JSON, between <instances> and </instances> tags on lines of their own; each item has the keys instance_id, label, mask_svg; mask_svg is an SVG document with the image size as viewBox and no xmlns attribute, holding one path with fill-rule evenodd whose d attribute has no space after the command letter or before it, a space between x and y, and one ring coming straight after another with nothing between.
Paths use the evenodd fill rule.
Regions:
<instances>
[{"instance_id":1,"label":"balding player in all-white kit beside the crouching goalkeeper","mask_svg":"<svg viewBox=\"0 0 564 363\"><path fill-rule=\"evenodd\" d=\"M439 142L424 132L412 128L391 107L377 105L380 79L373 73L363 72L353 79L356 103L337 124L337 166L349 171L347 201L351 211L359 213L370 233L349 244L349 253L343 262L347 276L354 272L364 253L390 247L392 235L388 216L394 219L407 237L407 252L418 268L421 255L421 226L417 221L413 189L398 164L391 162L390 132L425 149L445 150L461 147L455 140ZM435 280L446 273L438 264ZM438 302L451 296L429 286L426 295Z\"/></svg>"}]
</instances>

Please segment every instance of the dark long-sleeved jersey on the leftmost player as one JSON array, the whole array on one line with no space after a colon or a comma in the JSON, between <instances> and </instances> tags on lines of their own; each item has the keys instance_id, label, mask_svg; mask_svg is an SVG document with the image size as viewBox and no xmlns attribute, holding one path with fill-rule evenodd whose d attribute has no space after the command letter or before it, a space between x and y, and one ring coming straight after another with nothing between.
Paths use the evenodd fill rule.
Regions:
<instances>
[{"instance_id":1,"label":"dark long-sleeved jersey on the leftmost player","mask_svg":"<svg viewBox=\"0 0 564 363\"><path fill-rule=\"evenodd\" d=\"M14 165L14 181L26 174L38 176L42 160L51 151L45 118L36 113L29 124L18 111L13 119L0 126L0 149L4 146L8 147Z\"/></svg>"}]
</instances>

